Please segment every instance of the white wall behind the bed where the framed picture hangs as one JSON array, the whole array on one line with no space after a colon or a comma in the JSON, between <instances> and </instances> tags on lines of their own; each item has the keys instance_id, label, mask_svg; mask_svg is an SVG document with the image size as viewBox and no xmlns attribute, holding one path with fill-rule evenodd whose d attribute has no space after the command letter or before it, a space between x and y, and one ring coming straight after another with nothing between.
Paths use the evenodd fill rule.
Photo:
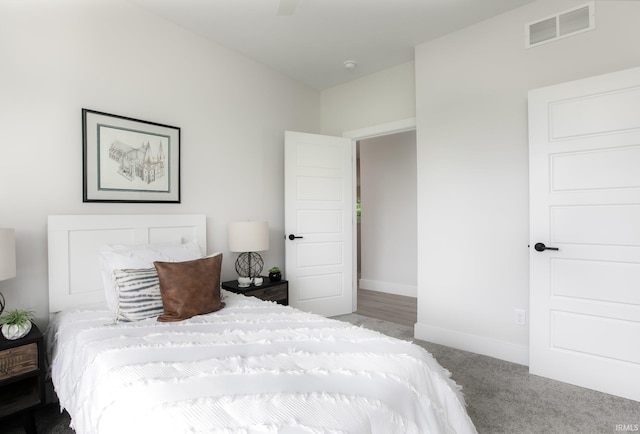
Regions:
<instances>
[{"instance_id":1,"label":"white wall behind the bed where the framed picture hangs","mask_svg":"<svg viewBox=\"0 0 640 434\"><path fill-rule=\"evenodd\" d=\"M283 132L320 132L320 94L121 1L0 3L0 226L16 229L7 308L48 317L49 214L207 215L267 220L265 266L284 265ZM82 202L81 109L178 126L181 204ZM285 270L286 271L286 270Z\"/></svg>"}]
</instances>

